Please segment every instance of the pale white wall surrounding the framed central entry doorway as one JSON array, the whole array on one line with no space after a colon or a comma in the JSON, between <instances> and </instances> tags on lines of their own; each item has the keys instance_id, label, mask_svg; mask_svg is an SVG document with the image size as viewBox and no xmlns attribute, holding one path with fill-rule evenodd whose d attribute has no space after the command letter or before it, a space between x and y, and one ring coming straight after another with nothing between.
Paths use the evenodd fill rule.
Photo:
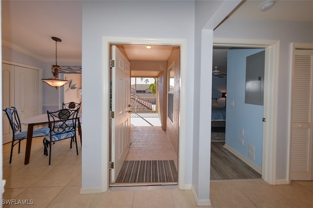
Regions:
<instances>
[{"instance_id":1,"label":"pale white wall surrounding the framed central entry doorway","mask_svg":"<svg viewBox=\"0 0 313 208\"><path fill-rule=\"evenodd\" d=\"M138 15L140 14L140 15ZM193 48L194 48L194 1L84 1L83 2L83 70L84 135L82 188L99 188L102 154L101 149L103 90L102 36L179 38L187 40L186 100L193 101ZM192 92L192 93L190 93ZM100 113L95 114L94 109ZM193 102L186 104L186 164L185 184L191 184L192 111ZM106 118L109 119L109 118ZM86 137L85 137L86 138Z\"/></svg>"}]
</instances>

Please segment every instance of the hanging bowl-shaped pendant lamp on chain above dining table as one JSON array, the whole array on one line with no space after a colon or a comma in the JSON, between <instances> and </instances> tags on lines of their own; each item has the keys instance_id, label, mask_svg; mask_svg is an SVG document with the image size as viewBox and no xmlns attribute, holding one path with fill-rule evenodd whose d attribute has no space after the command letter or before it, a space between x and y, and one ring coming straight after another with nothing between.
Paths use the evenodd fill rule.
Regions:
<instances>
[{"instance_id":1,"label":"hanging bowl-shaped pendant lamp on chain above dining table","mask_svg":"<svg viewBox=\"0 0 313 208\"><path fill-rule=\"evenodd\" d=\"M51 66L54 79L42 79L42 81L49 84L50 86L54 86L57 89L59 86L63 86L64 84L68 83L68 81L59 80L58 78L58 73L62 68L58 65L57 42L62 42L62 40L57 37L52 37L51 39L55 41L55 65Z\"/></svg>"}]
</instances>

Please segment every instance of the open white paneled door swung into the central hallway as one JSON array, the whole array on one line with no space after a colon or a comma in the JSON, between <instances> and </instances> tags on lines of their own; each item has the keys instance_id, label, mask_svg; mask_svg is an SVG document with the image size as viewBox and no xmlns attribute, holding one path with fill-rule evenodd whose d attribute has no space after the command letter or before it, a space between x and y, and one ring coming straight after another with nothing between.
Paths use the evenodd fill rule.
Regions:
<instances>
[{"instance_id":1,"label":"open white paneled door swung into the central hallway","mask_svg":"<svg viewBox=\"0 0 313 208\"><path fill-rule=\"evenodd\" d=\"M130 145L130 62L114 45L112 46L112 135L111 183L121 170Z\"/></svg>"}]
</instances>

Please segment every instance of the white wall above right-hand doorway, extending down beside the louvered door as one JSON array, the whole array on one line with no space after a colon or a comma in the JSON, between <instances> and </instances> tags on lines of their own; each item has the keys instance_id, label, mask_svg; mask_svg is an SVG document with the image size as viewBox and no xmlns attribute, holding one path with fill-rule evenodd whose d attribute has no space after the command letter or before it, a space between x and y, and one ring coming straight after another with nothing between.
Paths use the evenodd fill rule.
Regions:
<instances>
[{"instance_id":1,"label":"white wall above right-hand doorway, extending down beside the louvered door","mask_svg":"<svg viewBox=\"0 0 313 208\"><path fill-rule=\"evenodd\" d=\"M291 42L313 42L312 22L228 19L214 31L214 38L280 40L276 180L288 176Z\"/></svg>"}]
</instances>

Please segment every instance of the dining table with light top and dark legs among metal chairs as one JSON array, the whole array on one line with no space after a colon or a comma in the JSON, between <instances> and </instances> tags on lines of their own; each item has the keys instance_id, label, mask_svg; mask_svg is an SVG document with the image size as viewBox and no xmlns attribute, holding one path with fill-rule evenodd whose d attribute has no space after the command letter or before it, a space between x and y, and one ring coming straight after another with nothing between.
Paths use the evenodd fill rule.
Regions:
<instances>
[{"instance_id":1,"label":"dining table with light top and dark legs among metal chairs","mask_svg":"<svg viewBox=\"0 0 313 208\"><path fill-rule=\"evenodd\" d=\"M82 126L80 123L80 118L82 117L81 113L78 113L77 120L78 120L78 133L80 136L80 143L82 144ZM44 125L48 124L48 114L41 114L37 116L30 117L21 122L22 124L28 125L27 127L27 139L26 139L26 149L25 149L25 160L24 165L27 165L30 160L30 150L31 150L31 143L33 140L33 130L35 125Z\"/></svg>"}]
</instances>

